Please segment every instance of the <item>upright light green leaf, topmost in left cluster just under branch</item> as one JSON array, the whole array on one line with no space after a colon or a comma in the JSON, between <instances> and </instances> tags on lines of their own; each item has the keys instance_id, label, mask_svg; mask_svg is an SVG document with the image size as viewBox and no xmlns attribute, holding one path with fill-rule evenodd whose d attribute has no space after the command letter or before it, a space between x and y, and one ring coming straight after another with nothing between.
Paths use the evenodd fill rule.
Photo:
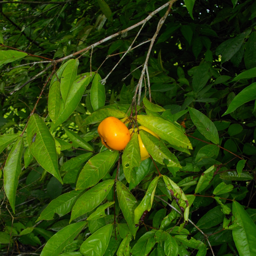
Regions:
<instances>
[{"instance_id":1,"label":"upright light green leaf, topmost in left cluster just under branch","mask_svg":"<svg viewBox=\"0 0 256 256\"><path fill-rule=\"evenodd\" d=\"M65 70L62 73L62 79L60 79L60 92L62 92L63 102L65 104L66 98L70 92L71 86L76 79L78 73L79 60L71 60L66 65Z\"/></svg>"}]
</instances>

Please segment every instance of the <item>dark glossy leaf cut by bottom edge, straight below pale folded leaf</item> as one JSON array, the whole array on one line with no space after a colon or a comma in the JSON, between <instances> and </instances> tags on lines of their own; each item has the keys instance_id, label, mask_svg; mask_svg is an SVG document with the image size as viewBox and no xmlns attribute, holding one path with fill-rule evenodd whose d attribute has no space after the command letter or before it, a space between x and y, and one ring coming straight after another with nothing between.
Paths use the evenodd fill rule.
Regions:
<instances>
[{"instance_id":1,"label":"dark glossy leaf cut by bottom edge, straight below pale folded leaf","mask_svg":"<svg viewBox=\"0 0 256 256\"><path fill-rule=\"evenodd\" d=\"M146 256L148 255L156 244L154 239L154 233L156 231L149 231L138 239L135 246L132 248L132 255L134 256Z\"/></svg>"}]
</instances>

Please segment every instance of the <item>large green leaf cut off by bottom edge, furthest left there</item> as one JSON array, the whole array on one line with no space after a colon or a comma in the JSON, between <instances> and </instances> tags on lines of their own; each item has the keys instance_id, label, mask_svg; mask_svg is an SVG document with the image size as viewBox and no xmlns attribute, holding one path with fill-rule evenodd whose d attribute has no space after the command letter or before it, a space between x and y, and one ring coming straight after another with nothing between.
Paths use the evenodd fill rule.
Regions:
<instances>
[{"instance_id":1,"label":"large green leaf cut off by bottom edge, furthest left there","mask_svg":"<svg viewBox=\"0 0 256 256\"><path fill-rule=\"evenodd\" d=\"M42 249L41 256L57 256L59 255L65 246L70 244L74 238L81 232L82 228L86 225L86 222L78 222L66 226L58 233L54 234Z\"/></svg>"}]
</instances>

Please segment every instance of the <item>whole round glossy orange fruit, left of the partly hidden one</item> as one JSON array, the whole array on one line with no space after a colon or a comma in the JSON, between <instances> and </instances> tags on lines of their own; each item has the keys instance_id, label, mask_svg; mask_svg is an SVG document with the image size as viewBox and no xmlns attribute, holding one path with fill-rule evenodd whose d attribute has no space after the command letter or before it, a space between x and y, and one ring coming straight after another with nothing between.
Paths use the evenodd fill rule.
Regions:
<instances>
[{"instance_id":1,"label":"whole round glossy orange fruit, left of the partly hidden one","mask_svg":"<svg viewBox=\"0 0 256 256\"><path fill-rule=\"evenodd\" d=\"M130 132L119 119L110 116L105 118L98 126L98 135L102 144L110 150L124 150L130 141Z\"/></svg>"}]
</instances>

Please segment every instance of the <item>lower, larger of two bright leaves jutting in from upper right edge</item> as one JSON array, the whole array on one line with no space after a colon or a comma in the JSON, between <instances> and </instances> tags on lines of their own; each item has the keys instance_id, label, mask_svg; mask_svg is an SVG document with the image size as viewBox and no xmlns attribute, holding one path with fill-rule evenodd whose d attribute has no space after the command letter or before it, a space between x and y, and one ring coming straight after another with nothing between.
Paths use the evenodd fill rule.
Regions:
<instances>
[{"instance_id":1,"label":"lower, larger of two bright leaves jutting in from upper right edge","mask_svg":"<svg viewBox=\"0 0 256 256\"><path fill-rule=\"evenodd\" d=\"M256 70L256 68L255 68ZM239 106L242 106L244 103L250 102L251 100L255 100L256 98L256 82L250 84L244 88L241 92L239 92L236 97L232 100L230 105L228 106L228 110L222 115L225 116L233 111L235 111Z\"/></svg>"}]
</instances>

